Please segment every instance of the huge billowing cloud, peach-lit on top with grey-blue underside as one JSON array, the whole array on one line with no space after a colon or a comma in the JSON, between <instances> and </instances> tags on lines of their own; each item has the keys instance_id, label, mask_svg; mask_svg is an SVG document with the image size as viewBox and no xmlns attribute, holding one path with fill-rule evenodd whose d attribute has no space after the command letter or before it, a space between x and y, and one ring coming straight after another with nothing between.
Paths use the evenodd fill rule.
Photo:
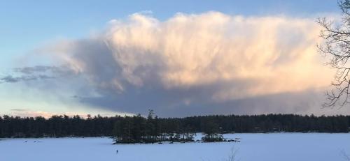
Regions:
<instances>
[{"instance_id":1,"label":"huge billowing cloud, peach-lit on top with grey-blue underside","mask_svg":"<svg viewBox=\"0 0 350 161\"><path fill-rule=\"evenodd\" d=\"M135 13L50 53L84 77L95 95L76 94L97 107L179 116L257 111L260 102L266 112L300 112L318 106L315 93L332 77L316 51L318 34L307 18L209 12L160 21Z\"/></svg>"}]
</instances>

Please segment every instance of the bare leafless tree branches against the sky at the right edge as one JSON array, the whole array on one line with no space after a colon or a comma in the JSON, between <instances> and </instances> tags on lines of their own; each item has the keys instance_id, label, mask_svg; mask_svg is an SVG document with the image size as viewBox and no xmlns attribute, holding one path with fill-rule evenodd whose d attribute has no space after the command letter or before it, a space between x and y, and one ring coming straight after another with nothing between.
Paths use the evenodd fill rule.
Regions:
<instances>
[{"instance_id":1,"label":"bare leafless tree branches against the sky at the right edge","mask_svg":"<svg viewBox=\"0 0 350 161\"><path fill-rule=\"evenodd\" d=\"M327 65L335 68L333 88L326 93L327 102L323 107L343 107L350 103L350 0L338 1L342 10L342 20L332 21L327 18L318 18L321 25L323 43L318 44L318 51L330 57Z\"/></svg>"}]
</instances>

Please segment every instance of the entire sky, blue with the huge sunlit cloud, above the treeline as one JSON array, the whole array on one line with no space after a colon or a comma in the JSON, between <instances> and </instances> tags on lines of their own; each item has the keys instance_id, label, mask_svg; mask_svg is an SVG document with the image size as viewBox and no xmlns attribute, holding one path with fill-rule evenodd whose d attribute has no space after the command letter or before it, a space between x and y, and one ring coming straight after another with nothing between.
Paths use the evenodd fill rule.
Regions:
<instances>
[{"instance_id":1,"label":"entire sky, blue with the huge sunlit cloud, above the treeline","mask_svg":"<svg viewBox=\"0 0 350 161\"><path fill-rule=\"evenodd\" d=\"M0 3L0 114L350 114L321 108L332 0Z\"/></svg>"}]
</instances>

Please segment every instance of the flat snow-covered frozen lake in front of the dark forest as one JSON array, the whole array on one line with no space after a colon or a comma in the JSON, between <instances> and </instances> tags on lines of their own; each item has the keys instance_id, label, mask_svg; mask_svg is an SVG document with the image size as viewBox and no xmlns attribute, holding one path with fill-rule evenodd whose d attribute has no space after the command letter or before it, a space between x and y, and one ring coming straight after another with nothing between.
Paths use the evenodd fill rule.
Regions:
<instances>
[{"instance_id":1,"label":"flat snow-covered frozen lake in front of the dark forest","mask_svg":"<svg viewBox=\"0 0 350 161\"><path fill-rule=\"evenodd\" d=\"M200 136L197 136L197 138ZM344 160L350 154L350 134L271 133L230 134L240 143L176 143L113 145L109 138L1 139L0 160L190 160L223 161L232 147L241 161ZM25 142L27 141L27 142ZM118 149L118 154L116 150Z\"/></svg>"}]
</instances>

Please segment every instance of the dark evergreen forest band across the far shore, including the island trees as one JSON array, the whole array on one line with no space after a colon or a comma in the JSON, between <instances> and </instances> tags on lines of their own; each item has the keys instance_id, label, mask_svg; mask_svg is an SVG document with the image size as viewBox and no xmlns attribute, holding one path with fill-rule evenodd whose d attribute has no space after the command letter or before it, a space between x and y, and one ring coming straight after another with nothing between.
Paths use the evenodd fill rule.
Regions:
<instances>
[{"instance_id":1,"label":"dark evergreen forest band across the far shore, including the island trees","mask_svg":"<svg viewBox=\"0 0 350 161\"><path fill-rule=\"evenodd\" d=\"M0 116L0 137L115 137L119 143L222 139L227 132L349 132L350 116L295 114L213 115L186 118L148 116Z\"/></svg>"}]
</instances>

